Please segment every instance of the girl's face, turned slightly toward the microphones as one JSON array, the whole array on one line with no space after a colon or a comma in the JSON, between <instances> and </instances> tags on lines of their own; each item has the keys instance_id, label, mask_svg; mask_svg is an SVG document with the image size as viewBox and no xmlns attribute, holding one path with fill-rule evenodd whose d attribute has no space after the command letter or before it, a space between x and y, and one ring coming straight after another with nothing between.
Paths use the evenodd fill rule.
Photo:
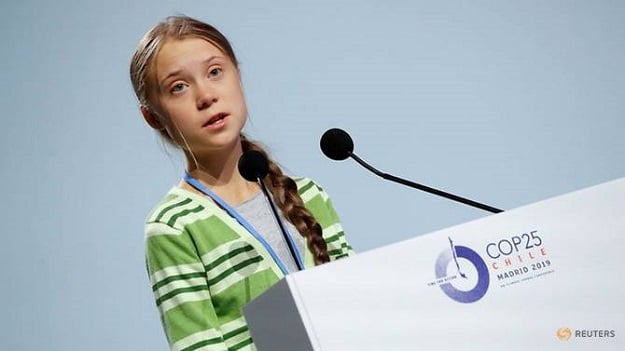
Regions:
<instances>
[{"instance_id":1,"label":"girl's face, turned slightly toward the microphones","mask_svg":"<svg viewBox=\"0 0 625 351\"><path fill-rule=\"evenodd\" d=\"M195 155L231 147L247 118L239 70L200 38L165 42L154 62L156 118Z\"/></svg>"}]
</instances>

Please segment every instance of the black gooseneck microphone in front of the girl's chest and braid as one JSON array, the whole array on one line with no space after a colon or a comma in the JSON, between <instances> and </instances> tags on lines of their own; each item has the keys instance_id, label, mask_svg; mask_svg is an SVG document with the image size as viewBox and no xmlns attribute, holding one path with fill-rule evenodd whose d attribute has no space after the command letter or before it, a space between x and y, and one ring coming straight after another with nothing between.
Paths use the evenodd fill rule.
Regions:
<instances>
[{"instance_id":1,"label":"black gooseneck microphone in front of the girl's chest and braid","mask_svg":"<svg viewBox=\"0 0 625 351\"><path fill-rule=\"evenodd\" d=\"M278 210L276 209L276 205L273 203L273 199L269 196L269 192L267 191L267 187L265 186L265 182L263 179L269 173L269 161L267 157L260 151L249 150L245 151L243 155L239 158L239 163L237 164L239 168L239 173L241 176L245 178L245 180L250 182L256 182L260 185L260 188L265 194L265 198L269 202L269 207L271 207L271 211L273 212L273 216L280 227L280 231L282 232L282 236L284 237L284 241L286 241L287 246L289 247L289 251L291 252L291 257L293 257L293 261L297 265L298 270L304 269L302 263L297 259L297 248L295 247L295 243L291 238L289 238L289 234L278 214Z\"/></svg>"}]
</instances>

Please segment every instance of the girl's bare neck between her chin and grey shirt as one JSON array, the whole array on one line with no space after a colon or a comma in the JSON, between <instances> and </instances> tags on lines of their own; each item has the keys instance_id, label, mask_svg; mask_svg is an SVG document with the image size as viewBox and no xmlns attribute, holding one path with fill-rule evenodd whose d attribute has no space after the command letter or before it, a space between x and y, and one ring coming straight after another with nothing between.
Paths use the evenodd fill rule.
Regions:
<instances>
[{"instance_id":1,"label":"girl's bare neck between her chin and grey shirt","mask_svg":"<svg viewBox=\"0 0 625 351\"><path fill-rule=\"evenodd\" d=\"M242 203L260 189L258 184L245 180L239 173L238 162L243 154L240 141L230 149L211 152L210 155L193 157L188 152L185 154L187 172L229 205ZM197 192L184 181L181 187Z\"/></svg>"}]
</instances>

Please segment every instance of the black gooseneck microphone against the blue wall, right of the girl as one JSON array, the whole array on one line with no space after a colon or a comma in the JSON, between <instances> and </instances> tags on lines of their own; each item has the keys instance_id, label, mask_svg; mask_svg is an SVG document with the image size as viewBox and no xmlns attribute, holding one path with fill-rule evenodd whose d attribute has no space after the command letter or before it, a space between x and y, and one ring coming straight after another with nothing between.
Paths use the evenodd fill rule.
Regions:
<instances>
[{"instance_id":1,"label":"black gooseneck microphone against the blue wall, right of the girl","mask_svg":"<svg viewBox=\"0 0 625 351\"><path fill-rule=\"evenodd\" d=\"M467 199L458 195L450 194L442 190L431 188L429 186L411 182L409 180L402 179L402 178L396 177L388 173L381 172L373 168L371 165L366 163L364 160L362 160L360 157L358 157L354 153L354 141L349 136L349 134L347 134L347 132L342 129L332 128L332 129L327 130L325 133L323 133L323 135L321 136L320 146L321 146L321 151L328 158L331 158L336 161L342 161L348 157L351 157L356 162L358 162L361 166L365 167L369 171L373 172L375 175L382 177L386 180L390 180L399 184L403 184L411 188L419 189L419 190L422 190L422 191L425 191L434 195L442 196L446 199L457 201L465 205L473 206L481 210L489 211L492 213L503 212L503 210L500 210L498 208L488 206L488 205L485 205L477 201L473 201L473 200L470 200L470 199Z\"/></svg>"}]
</instances>

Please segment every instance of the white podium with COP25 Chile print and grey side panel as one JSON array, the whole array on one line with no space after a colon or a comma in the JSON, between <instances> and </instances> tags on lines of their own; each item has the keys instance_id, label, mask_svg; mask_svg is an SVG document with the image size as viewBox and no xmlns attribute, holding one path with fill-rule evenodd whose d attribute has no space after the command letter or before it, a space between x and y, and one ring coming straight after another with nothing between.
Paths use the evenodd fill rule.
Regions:
<instances>
[{"instance_id":1,"label":"white podium with COP25 Chile print and grey side panel","mask_svg":"<svg viewBox=\"0 0 625 351\"><path fill-rule=\"evenodd\" d=\"M289 275L244 312L259 351L625 350L624 237L625 178Z\"/></svg>"}]
</instances>

